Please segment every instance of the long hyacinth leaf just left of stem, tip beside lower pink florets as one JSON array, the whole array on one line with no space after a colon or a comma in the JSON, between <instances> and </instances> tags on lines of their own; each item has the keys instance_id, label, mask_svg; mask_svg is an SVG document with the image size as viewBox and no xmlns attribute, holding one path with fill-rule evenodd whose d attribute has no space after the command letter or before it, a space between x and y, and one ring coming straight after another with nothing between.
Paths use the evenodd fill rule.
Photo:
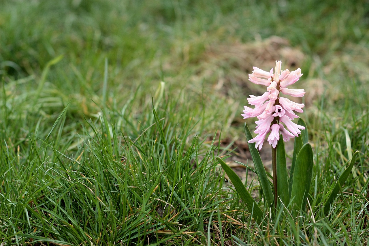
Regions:
<instances>
[{"instance_id":1,"label":"long hyacinth leaf just left of stem, tip beside lower pink florets","mask_svg":"<svg viewBox=\"0 0 369 246\"><path fill-rule=\"evenodd\" d=\"M245 134L247 142L250 141L252 139L252 135L249 130L249 127L247 126L247 123L245 123ZM254 161L256 174L258 174L259 182L264 192L266 204L268 205L269 208L271 208L273 206L274 196L272 187L270 187L268 176L266 175L265 172L265 167L263 165L263 162L261 161L259 151L255 147L255 143L248 143L248 145L252 161Z\"/></svg>"}]
</instances>

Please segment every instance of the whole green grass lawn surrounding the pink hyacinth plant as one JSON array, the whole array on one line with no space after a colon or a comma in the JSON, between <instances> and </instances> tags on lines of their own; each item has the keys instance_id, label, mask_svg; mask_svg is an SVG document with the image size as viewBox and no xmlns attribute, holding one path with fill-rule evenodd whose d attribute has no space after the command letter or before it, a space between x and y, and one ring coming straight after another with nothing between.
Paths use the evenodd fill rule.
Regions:
<instances>
[{"instance_id":1,"label":"whole green grass lawn surrounding the pink hyacinth plant","mask_svg":"<svg viewBox=\"0 0 369 246\"><path fill-rule=\"evenodd\" d=\"M1 6L1 246L368 244L365 1ZM247 74L273 59L304 73L314 170L306 214L259 227L215 157L242 157Z\"/></svg>"}]
</instances>

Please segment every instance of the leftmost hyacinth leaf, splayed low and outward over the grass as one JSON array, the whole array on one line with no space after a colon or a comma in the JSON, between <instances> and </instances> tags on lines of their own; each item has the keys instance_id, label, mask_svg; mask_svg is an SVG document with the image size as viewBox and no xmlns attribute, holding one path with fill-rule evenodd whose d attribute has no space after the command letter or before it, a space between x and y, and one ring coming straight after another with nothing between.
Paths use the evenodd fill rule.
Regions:
<instances>
[{"instance_id":1,"label":"leftmost hyacinth leaf, splayed low and outward over the grass","mask_svg":"<svg viewBox=\"0 0 369 246\"><path fill-rule=\"evenodd\" d=\"M217 161L227 173L228 178L232 181L232 184L238 192L239 197L241 197L242 201L246 204L247 209L251 212L252 218L254 218L257 223L260 223L261 219L263 218L263 212L261 211L259 205L255 202L254 198L251 197L241 179L221 158L217 157Z\"/></svg>"}]
</instances>

